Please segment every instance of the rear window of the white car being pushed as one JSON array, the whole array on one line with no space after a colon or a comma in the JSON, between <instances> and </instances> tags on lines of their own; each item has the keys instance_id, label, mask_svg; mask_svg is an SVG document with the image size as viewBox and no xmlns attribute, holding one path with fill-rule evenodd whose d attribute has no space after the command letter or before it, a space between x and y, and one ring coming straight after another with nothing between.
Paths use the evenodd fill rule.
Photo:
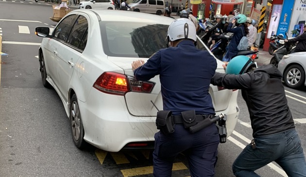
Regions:
<instances>
[{"instance_id":1,"label":"rear window of the white car being pushed","mask_svg":"<svg viewBox=\"0 0 306 177\"><path fill-rule=\"evenodd\" d=\"M104 53L108 56L149 58L165 41L169 25L138 22L100 22ZM202 42L197 48L206 50Z\"/></svg>"}]
</instances>

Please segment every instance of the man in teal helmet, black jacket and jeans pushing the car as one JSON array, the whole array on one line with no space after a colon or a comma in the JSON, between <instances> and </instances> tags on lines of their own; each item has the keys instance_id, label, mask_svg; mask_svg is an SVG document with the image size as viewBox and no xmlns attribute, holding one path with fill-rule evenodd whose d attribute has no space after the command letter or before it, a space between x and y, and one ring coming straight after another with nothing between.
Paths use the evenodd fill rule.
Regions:
<instances>
[{"instance_id":1,"label":"man in teal helmet, black jacket and jeans pushing the car","mask_svg":"<svg viewBox=\"0 0 306 177\"><path fill-rule=\"evenodd\" d=\"M225 72L216 72L211 84L241 89L254 138L233 163L234 175L259 177L254 171L275 161L289 177L306 177L306 160L287 104L281 72L272 64L256 69L251 59L243 55L233 58Z\"/></svg>"}]
</instances>

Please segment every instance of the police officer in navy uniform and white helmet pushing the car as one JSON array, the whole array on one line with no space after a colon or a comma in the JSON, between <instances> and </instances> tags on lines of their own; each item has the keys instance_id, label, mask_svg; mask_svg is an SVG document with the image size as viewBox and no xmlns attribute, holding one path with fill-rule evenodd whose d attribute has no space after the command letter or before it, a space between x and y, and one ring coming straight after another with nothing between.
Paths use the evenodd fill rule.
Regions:
<instances>
[{"instance_id":1,"label":"police officer in navy uniform and white helmet pushing the car","mask_svg":"<svg viewBox=\"0 0 306 177\"><path fill-rule=\"evenodd\" d=\"M164 110L180 119L174 121L174 133L155 134L153 176L170 177L175 157L185 152L192 177L212 177L215 174L217 148L220 142L215 124L191 133L182 124L183 111L195 110L198 116L215 115L209 84L217 68L216 59L207 51L195 47L196 29L191 20L174 20L167 33L169 48L154 53L146 63L132 63L135 78L147 81L159 75Z\"/></svg>"}]
</instances>

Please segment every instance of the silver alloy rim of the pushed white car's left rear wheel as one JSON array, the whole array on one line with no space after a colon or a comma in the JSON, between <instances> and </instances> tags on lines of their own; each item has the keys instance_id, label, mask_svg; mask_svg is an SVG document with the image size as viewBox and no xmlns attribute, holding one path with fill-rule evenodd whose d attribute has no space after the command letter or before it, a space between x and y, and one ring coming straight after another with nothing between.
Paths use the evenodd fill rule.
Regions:
<instances>
[{"instance_id":1,"label":"silver alloy rim of the pushed white car's left rear wheel","mask_svg":"<svg viewBox=\"0 0 306 177\"><path fill-rule=\"evenodd\" d=\"M71 125L72 125L72 134L76 141L80 138L80 110L76 101L72 103L71 106Z\"/></svg>"}]
</instances>

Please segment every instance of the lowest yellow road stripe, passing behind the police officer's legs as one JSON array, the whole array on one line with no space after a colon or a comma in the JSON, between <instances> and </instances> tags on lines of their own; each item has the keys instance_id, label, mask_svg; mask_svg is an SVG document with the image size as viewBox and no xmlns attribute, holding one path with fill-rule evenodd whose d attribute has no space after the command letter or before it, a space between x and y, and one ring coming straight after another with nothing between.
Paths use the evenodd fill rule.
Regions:
<instances>
[{"instance_id":1,"label":"lowest yellow road stripe, passing behind the police officer's legs","mask_svg":"<svg viewBox=\"0 0 306 177\"><path fill-rule=\"evenodd\" d=\"M182 162L173 163L172 171L186 170L186 169L187 169L187 167ZM138 175L148 175L148 174L153 173L153 166L125 169L125 170L121 170L121 173L122 173L123 177L134 177L134 176L138 176Z\"/></svg>"}]
</instances>

